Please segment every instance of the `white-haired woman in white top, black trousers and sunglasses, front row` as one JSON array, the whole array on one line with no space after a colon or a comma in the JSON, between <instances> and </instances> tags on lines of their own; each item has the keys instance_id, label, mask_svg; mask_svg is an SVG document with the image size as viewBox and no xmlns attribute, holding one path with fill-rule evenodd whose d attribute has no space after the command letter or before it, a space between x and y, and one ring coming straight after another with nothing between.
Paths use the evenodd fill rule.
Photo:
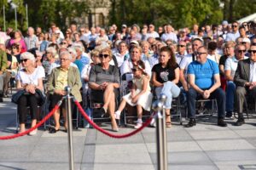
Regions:
<instances>
[{"instance_id":1,"label":"white-haired woman in white top, black trousers and sunglasses, front row","mask_svg":"<svg viewBox=\"0 0 256 170\"><path fill-rule=\"evenodd\" d=\"M20 133L26 131L26 114L27 106L30 107L32 117L32 127L37 123L38 105L42 104L42 98L38 94L38 90L43 91L44 71L35 68L35 58L33 54L25 52L20 55L22 69L18 71L16 76L17 90L25 90L18 100L18 114L20 122ZM39 92L40 93L40 92ZM32 131L30 135L37 133L37 129Z\"/></svg>"}]
</instances>

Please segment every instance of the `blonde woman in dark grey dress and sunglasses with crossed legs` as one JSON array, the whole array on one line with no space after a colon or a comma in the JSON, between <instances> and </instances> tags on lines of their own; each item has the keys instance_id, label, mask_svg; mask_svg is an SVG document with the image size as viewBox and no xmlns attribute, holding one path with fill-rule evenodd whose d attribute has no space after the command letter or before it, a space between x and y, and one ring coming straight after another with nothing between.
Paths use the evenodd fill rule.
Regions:
<instances>
[{"instance_id":1,"label":"blonde woman in dark grey dress and sunglasses with crossed legs","mask_svg":"<svg viewBox=\"0 0 256 170\"><path fill-rule=\"evenodd\" d=\"M103 48L99 54L101 63L93 65L90 69L89 87L91 96L96 97L96 102L103 102L102 112L109 113L111 117L112 129L117 132L119 129L114 118L115 94L114 90L119 88L119 71L109 65L112 59L110 48Z\"/></svg>"}]
</instances>

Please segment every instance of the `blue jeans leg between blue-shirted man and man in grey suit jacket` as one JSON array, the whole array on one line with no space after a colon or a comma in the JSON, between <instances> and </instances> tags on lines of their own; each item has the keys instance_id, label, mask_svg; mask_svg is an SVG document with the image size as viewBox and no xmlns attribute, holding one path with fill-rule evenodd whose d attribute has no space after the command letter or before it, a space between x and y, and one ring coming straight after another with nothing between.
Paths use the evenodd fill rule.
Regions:
<instances>
[{"instance_id":1,"label":"blue jeans leg between blue-shirted man and man in grey suit jacket","mask_svg":"<svg viewBox=\"0 0 256 170\"><path fill-rule=\"evenodd\" d=\"M234 110L235 93L236 93L236 84L232 81L227 82L226 111L233 111Z\"/></svg>"}]
</instances>

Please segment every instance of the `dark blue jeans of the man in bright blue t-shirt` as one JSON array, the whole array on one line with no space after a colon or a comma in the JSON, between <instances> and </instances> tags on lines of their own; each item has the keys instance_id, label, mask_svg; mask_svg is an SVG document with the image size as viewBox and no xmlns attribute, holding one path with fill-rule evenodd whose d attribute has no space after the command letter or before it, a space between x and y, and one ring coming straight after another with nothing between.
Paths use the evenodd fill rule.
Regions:
<instances>
[{"instance_id":1,"label":"dark blue jeans of the man in bright blue t-shirt","mask_svg":"<svg viewBox=\"0 0 256 170\"><path fill-rule=\"evenodd\" d=\"M189 88L187 93L188 101L188 116L189 118L195 118L195 101L196 99L202 99L202 96L198 94L194 88ZM210 94L209 99L217 99L218 105L218 118L225 117L225 101L226 97L222 88L217 88Z\"/></svg>"}]
</instances>

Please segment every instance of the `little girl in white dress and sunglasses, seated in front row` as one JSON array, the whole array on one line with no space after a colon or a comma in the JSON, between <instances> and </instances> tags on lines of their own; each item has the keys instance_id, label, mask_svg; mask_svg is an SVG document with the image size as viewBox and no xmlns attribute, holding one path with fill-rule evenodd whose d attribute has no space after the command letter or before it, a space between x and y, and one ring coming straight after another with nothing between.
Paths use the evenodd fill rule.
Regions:
<instances>
[{"instance_id":1,"label":"little girl in white dress and sunglasses, seated in front row","mask_svg":"<svg viewBox=\"0 0 256 170\"><path fill-rule=\"evenodd\" d=\"M137 105L137 125L135 128L139 128L143 126L143 109L150 111L153 95L150 93L149 77L145 72L145 64L142 60L137 61L137 65L132 69L132 73L134 79L132 80L131 93L123 97L118 111L115 111L115 116L116 119L119 119L126 103L131 106Z\"/></svg>"}]
</instances>

